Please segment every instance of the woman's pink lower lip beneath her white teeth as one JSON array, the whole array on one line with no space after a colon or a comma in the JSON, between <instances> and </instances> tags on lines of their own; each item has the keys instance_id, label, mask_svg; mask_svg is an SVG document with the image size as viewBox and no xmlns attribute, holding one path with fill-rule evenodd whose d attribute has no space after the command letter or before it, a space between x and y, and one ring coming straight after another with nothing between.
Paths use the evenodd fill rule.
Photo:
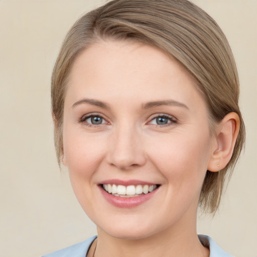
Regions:
<instances>
[{"instance_id":1,"label":"woman's pink lower lip beneath her white teeth","mask_svg":"<svg viewBox=\"0 0 257 257\"><path fill-rule=\"evenodd\" d=\"M133 208L140 204L143 204L144 202L152 198L156 193L156 191L158 190L157 188L148 194L135 196L135 197L118 197L107 193L101 186L99 186L99 188L102 195L107 200L107 202L119 208Z\"/></svg>"}]
</instances>

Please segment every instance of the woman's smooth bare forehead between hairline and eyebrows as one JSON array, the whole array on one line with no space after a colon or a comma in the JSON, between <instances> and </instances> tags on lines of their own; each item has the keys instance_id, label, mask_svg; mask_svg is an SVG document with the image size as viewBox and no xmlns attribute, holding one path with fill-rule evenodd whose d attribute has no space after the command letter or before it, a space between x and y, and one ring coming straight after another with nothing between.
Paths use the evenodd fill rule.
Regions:
<instances>
[{"instance_id":1,"label":"woman's smooth bare forehead between hairline and eyebrows","mask_svg":"<svg viewBox=\"0 0 257 257\"><path fill-rule=\"evenodd\" d=\"M74 62L67 95L104 101L145 101L201 97L188 72L161 50L140 43L101 41ZM117 99L116 99L117 100Z\"/></svg>"}]
</instances>

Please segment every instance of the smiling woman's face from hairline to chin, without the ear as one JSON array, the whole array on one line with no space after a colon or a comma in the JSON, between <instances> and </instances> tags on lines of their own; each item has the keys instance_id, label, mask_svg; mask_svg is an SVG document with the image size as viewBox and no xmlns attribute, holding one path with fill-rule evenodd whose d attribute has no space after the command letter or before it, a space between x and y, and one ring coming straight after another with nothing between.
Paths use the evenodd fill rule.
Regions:
<instances>
[{"instance_id":1,"label":"smiling woman's face from hairline to chin, without the ear","mask_svg":"<svg viewBox=\"0 0 257 257\"><path fill-rule=\"evenodd\" d=\"M101 231L139 239L195 226L214 140L193 80L160 50L107 41L80 54L63 144L74 192Z\"/></svg>"}]
</instances>

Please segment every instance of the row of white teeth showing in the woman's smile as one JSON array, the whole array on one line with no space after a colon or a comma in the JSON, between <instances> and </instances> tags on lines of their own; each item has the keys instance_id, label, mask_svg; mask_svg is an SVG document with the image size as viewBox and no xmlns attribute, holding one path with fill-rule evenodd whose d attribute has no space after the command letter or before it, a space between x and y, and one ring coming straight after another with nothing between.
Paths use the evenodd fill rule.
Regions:
<instances>
[{"instance_id":1,"label":"row of white teeth showing in the woman's smile","mask_svg":"<svg viewBox=\"0 0 257 257\"><path fill-rule=\"evenodd\" d=\"M111 184L103 184L103 189L114 195L120 197L134 197L140 196L143 193L148 194L155 190L157 185L130 185L130 186L123 186L123 185L111 185Z\"/></svg>"}]
</instances>

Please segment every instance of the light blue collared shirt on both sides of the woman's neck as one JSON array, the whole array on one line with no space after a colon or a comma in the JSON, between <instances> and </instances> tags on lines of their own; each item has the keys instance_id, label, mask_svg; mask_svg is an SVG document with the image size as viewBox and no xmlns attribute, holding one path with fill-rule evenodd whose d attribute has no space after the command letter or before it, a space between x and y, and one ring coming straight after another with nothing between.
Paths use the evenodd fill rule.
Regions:
<instances>
[{"instance_id":1,"label":"light blue collared shirt on both sides of the woman's neck","mask_svg":"<svg viewBox=\"0 0 257 257\"><path fill-rule=\"evenodd\" d=\"M198 235L198 237L204 246L210 248L210 257L233 257L229 253L223 251L209 236ZM42 257L85 257L95 238L96 236L90 237L83 242L54 251Z\"/></svg>"}]
</instances>

